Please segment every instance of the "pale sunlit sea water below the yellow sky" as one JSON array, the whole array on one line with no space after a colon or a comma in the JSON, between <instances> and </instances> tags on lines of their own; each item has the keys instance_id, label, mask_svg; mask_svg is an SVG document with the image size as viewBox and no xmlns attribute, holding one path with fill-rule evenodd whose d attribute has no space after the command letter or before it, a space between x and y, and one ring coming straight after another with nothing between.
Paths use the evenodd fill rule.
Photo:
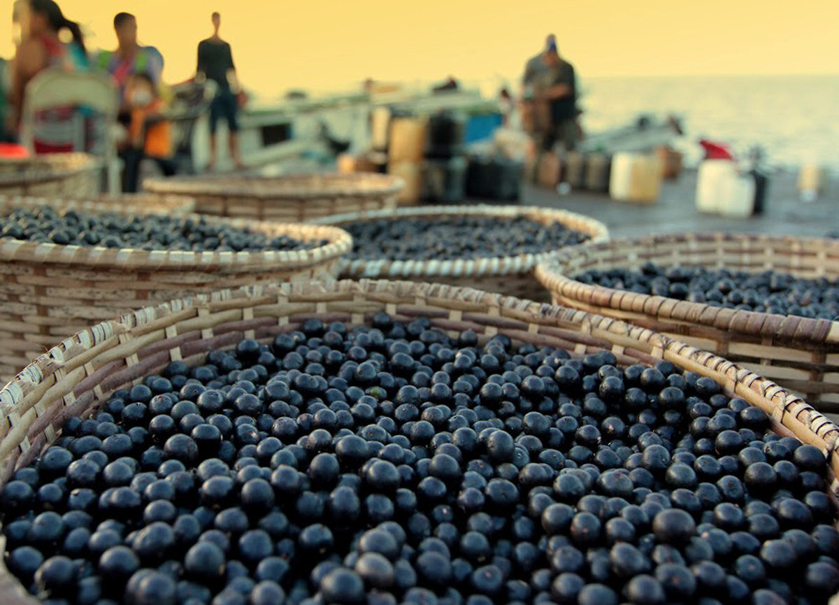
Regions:
<instances>
[{"instance_id":1,"label":"pale sunlit sea water below the yellow sky","mask_svg":"<svg viewBox=\"0 0 839 605\"><path fill-rule=\"evenodd\" d=\"M770 164L839 171L839 75L580 77L583 126L591 132L671 112L683 119L678 146L691 163L704 137L740 154L759 145Z\"/></svg>"}]
</instances>

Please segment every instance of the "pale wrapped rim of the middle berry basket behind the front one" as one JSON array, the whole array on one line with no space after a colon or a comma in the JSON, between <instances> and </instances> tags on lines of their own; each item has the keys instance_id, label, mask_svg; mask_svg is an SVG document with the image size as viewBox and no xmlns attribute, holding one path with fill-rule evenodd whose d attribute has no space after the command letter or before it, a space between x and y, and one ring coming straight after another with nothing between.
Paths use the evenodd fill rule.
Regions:
<instances>
[{"instance_id":1,"label":"pale wrapped rim of the middle berry basket behind the front one","mask_svg":"<svg viewBox=\"0 0 839 605\"><path fill-rule=\"evenodd\" d=\"M595 243L607 242L609 230L606 225L591 216L579 214L557 208L544 206L516 206L492 204L473 204L469 206L416 206L398 207L393 209L346 212L323 216L310 221L312 224L335 225L342 227L351 222L363 222L371 219L399 218L415 216L502 216L513 218L527 216L529 218L549 219L560 222L566 227L585 233L590 237L581 244L567 248L590 246ZM544 253L524 253L501 257L457 258L455 260L388 260L387 258L353 258L344 261L343 274L352 278L434 278L434 277L481 277L490 275L527 274L534 267L550 256L555 250Z\"/></svg>"}]
</instances>

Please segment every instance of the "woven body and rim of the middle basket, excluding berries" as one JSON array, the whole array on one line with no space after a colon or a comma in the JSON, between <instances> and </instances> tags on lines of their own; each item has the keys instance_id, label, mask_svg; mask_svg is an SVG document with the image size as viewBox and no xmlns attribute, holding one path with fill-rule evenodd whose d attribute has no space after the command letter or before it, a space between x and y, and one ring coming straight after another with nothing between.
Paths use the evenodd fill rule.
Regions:
<instances>
[{"instance_id":1,"label":"woven body and rim of the middle basket, excluding berries","mask_svg":"<svg viewBox=\"0 0 839 605\"><path fill-rule=\"evenodd\" d=\"M538 206L426 206L399 208L396 211L372 211L327 216L315 221L319 224L346 226L352 222L379 218L438 218L446 216L498 216L513 218L526 216L529 219L551 224L560 222L565 227L586 233L589 242L605 242L609 238L606 226L588 216L562 210L550 210ZM588 242L586 242L588 243ZM544 254L519 254L518 256L477 258L463 260L347 260L341 274L350 279L381 278L433 281L469 288L500 292L528 300L547 302L545 289L533 277L533 269L547 258Z\"/></svg>"}]
</instances>

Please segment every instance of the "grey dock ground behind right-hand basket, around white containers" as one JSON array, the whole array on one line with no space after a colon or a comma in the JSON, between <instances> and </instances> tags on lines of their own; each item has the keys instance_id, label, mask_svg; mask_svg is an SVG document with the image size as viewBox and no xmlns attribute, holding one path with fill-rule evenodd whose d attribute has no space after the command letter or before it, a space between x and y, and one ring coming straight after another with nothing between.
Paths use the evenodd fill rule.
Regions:
<instances>
[{"instance_id":1,"label":"grey dock ground behind right-hand basket, around white containers","mask_svg":"<svg viewBox=\"0 0 839 605\"><path fill-rule=\"evenodd\" d=\"M560 196L555 190L534 185L524 186L521 203L592 216L606 224L612 237L685 231L823 237L827 232L839 230L839 190L836 186L816 201L805 203L799 199L796 180L797 175L788 171L772 175L764 213L751 218L696 211L696 170L685 170L678 180L664 181L659 201L649 205L612 201L607 194L589 191L571 191Z\"/></svg>"}]
</instances>

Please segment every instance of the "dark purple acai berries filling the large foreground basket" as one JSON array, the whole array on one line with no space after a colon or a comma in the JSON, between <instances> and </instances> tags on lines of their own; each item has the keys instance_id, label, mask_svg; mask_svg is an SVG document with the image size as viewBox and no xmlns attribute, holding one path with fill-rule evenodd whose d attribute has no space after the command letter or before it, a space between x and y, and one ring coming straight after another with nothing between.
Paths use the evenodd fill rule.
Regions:
<instances>
[{"instance_id":1,"label":"dark purple acai berries filling the large foreground basket","mask_svg":"<svg viewBox=\"0 0 839 605\"><path fill-rule=\"evenodd\" d=\"M616 362L383 313L173 362L14 473L5 562L56 605L826 602L821 450Z\"/></svg>"}]
</instances>

